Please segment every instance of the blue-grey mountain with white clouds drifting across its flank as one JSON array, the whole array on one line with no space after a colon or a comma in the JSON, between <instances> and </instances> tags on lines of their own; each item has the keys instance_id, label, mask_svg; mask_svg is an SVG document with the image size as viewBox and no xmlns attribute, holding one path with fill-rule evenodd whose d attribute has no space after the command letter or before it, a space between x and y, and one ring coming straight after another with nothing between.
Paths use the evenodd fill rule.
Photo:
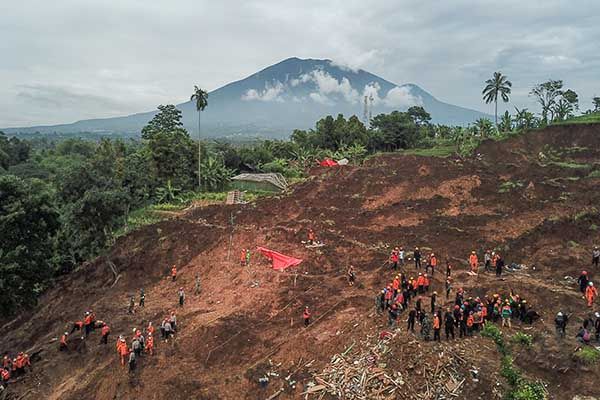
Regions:
<instances>
[{"instance_id":1,"label":"blue-grey mountain with white clouds drifting across its flank","mask_svg":"<svg viewBox=\"0 0 600 400\"><path fill-rule=\"evenodd\" d=\"M206 136L287 137L308 129L325 115L363 118L364 96L372 97L372 115L422 105L434 123L466 125L489 115L437 100L417 85L396 85L362 69L352 70L330 60L288 58L240 81L209 93L202 114ZM372 104L372 105L371 105ZM197 133L197 112L190 101L177 107L184 126ZM136 133L155 111L116 118L89 119L72 124L3 129L14 133Z\"/></svg>"}]
</instances>

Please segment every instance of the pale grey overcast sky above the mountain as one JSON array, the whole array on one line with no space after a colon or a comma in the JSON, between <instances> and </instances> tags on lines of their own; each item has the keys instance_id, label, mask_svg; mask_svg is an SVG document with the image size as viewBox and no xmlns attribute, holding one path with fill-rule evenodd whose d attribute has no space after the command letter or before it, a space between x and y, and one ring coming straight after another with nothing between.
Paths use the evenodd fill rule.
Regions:
<instances>
[{"instance_id":1,"label":"pale grey overcast sky above the mountain","mask_svg":"<svg viewBox=\"0 0 600 400\"><path fill-rule=\"evenodd\" d=\"M598 0L0 1L0 127L148 111L285 58L329 58L492 112L548 78L600 95Z\"/></svg>"}]
</instances>

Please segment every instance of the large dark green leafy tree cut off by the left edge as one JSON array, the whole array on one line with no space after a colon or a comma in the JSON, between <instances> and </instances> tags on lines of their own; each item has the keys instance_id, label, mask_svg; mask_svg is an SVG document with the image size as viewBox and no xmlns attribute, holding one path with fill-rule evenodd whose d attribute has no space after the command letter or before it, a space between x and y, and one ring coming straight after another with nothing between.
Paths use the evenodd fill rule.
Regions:
<instances>
[{"instance_id":1,"label":"large dark green leafy tree cut off by the left edge","mask_svg":"<svg viewBox=\"0 0 600 400\"><path fill-rule=\"evenodd\" d=\"M58 218L44 183L0 176L0 315L35 304L47 287Z\"/></svg>"}]
</instances>

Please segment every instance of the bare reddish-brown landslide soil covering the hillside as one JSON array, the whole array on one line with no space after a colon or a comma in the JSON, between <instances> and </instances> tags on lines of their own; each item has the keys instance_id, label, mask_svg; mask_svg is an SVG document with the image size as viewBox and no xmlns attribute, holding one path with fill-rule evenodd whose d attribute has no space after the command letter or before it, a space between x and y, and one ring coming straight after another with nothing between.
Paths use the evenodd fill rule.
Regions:
<instances>
[{"instance_id":1,"label":"bare reddish-brown landslide soil covering the hillside","mask_svg":"<svg viewBox=\"0 0 600 400\"><path fill-rule=\"evenodd\" d=\"M147 226L61 279L37 308L5 321L0 350L41 350L33 371L11 383L7 398L305 398L301 393L332 355L352 343L350 356L363 351L385 328L374 300L392 278L383 264L396 245L432 249L438 259L451 260L454 287L464 287L468 296L512 289L526 298L541 319L532 327L503 328L505 335L524 331L534 337L532 348L513 352L515 364L528 378L545 382L550 398L597 394L598 367L574 356L574 336L589 310L576 285L564 278L590 269L600 226L600 179L593 173L598 169L600 126L551 127L485 142L469 159L387 154L361 167L319 168L289 195L195 209ZM302 245L308 227L325 247ZM257 246L304 261L277 272L253 253L251 265L241 267L240 249ZM526 268L502 279L468 275L470 251L481 257L487 248ZM349 263L357 269L354 287L345 279ZM173 264L179 270L175 283L168 277ZM415 272L412 265L405 269ZM590 273L592 279L600 276ZM196 274L202 280L199 296L192 294ZM440 293L442 275L433 280ZM182 308L180 286L188 294ZM128 296L142 287L146 307L128 314ZM452 300L453 294L441 303ZM308 328L301 318L305 305L313 312ZM110 323L109 345L100 345L93 332L86 341L71 338L71 350L59 352L56 338L88 309ZM156 354L128 373L119 365L115 337L130 336L148 321L157 325L174 309L176 338L157 343ZM559 309L573 313L564 340L554 333ZM464 359L459 398L498 398L506 389L491 340L474 336L436 344L407 334L404 322L400 326L391 351L377 364L390 376L400 372L405 383L385 398L429 398L422 371L453 354ZM469 374L473 367L478 381ZM269 383L260 387L265 374Z\"/></svg>"}]
</instances>

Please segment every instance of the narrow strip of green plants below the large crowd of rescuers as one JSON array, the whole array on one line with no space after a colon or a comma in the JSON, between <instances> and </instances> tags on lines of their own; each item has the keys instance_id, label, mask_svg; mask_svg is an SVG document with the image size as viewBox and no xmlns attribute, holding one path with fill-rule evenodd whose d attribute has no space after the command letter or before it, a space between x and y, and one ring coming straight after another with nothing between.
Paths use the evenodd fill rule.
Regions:
<instances>
[{"instance_id":1,"label":"narrow strip of green plants below the large crowd of rescuers","mask_svg":"<svg viewBox=\"0 0 600 400\"><path fill-rule=\"evenodd\" d=\"M515 367L510 349L504 342L502 331L496 325L486 324L481 331L483 337L488 337L496 343L496 348L501 356L500 375L508 383L508 390L504 393L506 400L545 400L548 393L542 382L531 381L523 376L518 367ZM515 334L511 338L515 343L531 343L531 336Z\"/></svg>"}]
</instances>

